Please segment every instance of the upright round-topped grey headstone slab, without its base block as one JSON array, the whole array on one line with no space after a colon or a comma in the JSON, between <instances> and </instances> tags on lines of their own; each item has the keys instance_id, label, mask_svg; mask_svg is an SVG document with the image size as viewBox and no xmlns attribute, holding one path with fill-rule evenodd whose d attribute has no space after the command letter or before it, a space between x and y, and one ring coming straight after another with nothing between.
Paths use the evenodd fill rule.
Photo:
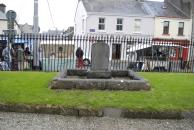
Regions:
<instances>
[{"instance_id":1,"label":"upright round-topped grey headstone slab, without its base block","mask_svg":"<svg viewBox=\"0 0 194 130\"><path fill-rule=\"evenodd\" d=\"M94 71L109 70L109 54L110 49L108 44L97 42L92 45L92 67Z\"/></svg>"}]
</instances>

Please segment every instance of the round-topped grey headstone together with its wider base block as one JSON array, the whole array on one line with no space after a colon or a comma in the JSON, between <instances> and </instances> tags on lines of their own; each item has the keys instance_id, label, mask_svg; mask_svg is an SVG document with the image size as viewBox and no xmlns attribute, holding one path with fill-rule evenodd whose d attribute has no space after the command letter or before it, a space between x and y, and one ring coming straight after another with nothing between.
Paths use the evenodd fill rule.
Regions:
<instances>
[{"instance_id":1,"label":"round-topped grey headstone together with its wider base block","mask_svg":"<svg viewBox=\"0 0 194 130\"><path fill-rule=\"evenodd\" d=\"M109 45L104 42L97 42L92 45L91 70L87 78L111 78L109 70Z\"/></svg>"}]
</instances>

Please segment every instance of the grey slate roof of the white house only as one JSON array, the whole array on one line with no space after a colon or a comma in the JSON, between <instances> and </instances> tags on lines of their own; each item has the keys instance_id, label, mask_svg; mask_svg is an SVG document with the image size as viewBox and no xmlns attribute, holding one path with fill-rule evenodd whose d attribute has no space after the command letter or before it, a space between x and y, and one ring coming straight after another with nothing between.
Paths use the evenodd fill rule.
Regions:
<instances>
[{"instance_id":1,"label":"grey slate roof of the white house only","mask_svg":"<svg viewBox=\"0 0 194 130\"><path fill-rule=\"evenodd\" d=\"M135 0L82 0L87 12L123 15L149 15Z\"/></svg>"}]
</instances>

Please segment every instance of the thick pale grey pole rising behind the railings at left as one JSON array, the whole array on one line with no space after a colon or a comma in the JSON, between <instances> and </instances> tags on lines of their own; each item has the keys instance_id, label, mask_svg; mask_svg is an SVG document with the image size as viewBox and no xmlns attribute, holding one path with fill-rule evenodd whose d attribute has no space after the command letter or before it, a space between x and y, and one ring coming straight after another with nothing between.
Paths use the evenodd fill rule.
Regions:
<instances>
[{"instance_id":1,"label":"thick pale grey pole rising behind the railings at left","mask_svg":"<svg viewBox=\"0 0 194 130\"><path fill-rule=\"evenodd\" d=\"M34 0L34 17L33 17L33 67L34 69L39 69L39 40L38 40L38 33L39 33L39 25L38 25L38 0Z\"/></svg>"}]
</instances>

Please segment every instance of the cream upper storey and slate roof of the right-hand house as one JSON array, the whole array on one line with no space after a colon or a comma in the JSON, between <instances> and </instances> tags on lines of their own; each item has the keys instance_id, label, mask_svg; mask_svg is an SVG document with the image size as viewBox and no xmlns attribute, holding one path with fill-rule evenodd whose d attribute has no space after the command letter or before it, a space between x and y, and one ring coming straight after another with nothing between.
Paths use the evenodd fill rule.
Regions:
<instances>
[{"instance_id":1,"label":"cream upper storey and slate roof of the right-hand house","mask_svg":"<svg viewBox=\"0 0 194 130\"><path fill-rule=\"evenodd\" d=\"M169 2L145 2L155 17L154 38L190 40L192 20L189 13Z\"/></svg>"}]
</instances>

